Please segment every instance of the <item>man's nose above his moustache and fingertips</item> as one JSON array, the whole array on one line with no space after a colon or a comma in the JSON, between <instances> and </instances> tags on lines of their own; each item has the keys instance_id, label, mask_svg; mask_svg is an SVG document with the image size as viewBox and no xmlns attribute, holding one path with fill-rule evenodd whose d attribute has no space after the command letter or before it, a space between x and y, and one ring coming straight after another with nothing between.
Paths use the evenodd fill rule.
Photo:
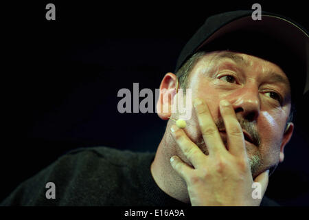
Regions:
<instances>
[{"instance_id":1,"label":"man's nose above his moustache and fingertips","mask_svg":"<svg viewBox=\"0 0 309 220\"><path fill-rule=\"evenodd\" d=\"M260 96L257 87L243 87L233 94L231 100L236 115L242 115L242 118L254 121L260 115Z\"/></svg>"}]
</instances>

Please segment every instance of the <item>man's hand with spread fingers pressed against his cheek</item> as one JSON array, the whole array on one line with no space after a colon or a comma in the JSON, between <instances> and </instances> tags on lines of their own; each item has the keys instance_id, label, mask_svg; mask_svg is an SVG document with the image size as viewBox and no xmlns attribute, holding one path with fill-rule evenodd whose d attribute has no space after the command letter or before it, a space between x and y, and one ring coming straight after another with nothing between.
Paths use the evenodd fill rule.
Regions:
<instances>
[{"instance_id":1,"label":"man's hand with spread fingers pressed against his cheek","mask_svg":"<svg viewBox=\"0 0 309 220\"><path fill-rule=\"evenodd\" d=\"M254 183L242 128L229 102L220 102L229 150L225 148L209 109L202 100L194 107L198 124L209 155L205 155L182 129L173 125L172 135L181 151L194 166L179 157L171 157L172 168L185 179L192 206L260 206L262 199L253 199ZM261 195L268 184L268 170L255 178L261 184ZM261 198L262 198L261 197Z\"/></svg>"}]
</instances>

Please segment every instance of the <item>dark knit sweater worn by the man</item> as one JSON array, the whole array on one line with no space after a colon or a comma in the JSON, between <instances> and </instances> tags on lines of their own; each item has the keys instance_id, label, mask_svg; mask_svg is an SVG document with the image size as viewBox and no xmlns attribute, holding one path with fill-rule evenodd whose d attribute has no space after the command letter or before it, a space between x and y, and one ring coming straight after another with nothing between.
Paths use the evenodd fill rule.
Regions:
<instances>
[{"instance_id":1,"label":"dark knit sweater worn by the man","mask_svg":"<svg viewBox=\"0 0 309 220\"><path fill-rule=\"evenodd\" d=\"M155 153L79 148L20 184L1 206L190 206L163 192L150 173ZM47 199L47 182L56 199ZM277 203L264 197L262 206Z\"/></svg>"}]
</instances>

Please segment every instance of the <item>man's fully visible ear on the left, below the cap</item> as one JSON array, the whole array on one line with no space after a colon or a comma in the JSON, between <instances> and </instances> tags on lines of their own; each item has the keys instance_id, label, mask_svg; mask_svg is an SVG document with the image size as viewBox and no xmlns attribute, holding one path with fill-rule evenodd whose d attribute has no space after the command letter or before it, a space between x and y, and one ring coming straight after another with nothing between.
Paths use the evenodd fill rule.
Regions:
<instances>
[{"instance_id":1,"label":"man's fully visible ear on the left, below the cap","mask_svg":"<svg viewBox=\"0 0 309 220\"><path fill-rule=\"evenodd\" d=\"M162 120L168 120L172 114L172 104L179 85L175 74L165 74L160 85L160 95L157 102L157 113Z\"/></svg>"}]
</instances>

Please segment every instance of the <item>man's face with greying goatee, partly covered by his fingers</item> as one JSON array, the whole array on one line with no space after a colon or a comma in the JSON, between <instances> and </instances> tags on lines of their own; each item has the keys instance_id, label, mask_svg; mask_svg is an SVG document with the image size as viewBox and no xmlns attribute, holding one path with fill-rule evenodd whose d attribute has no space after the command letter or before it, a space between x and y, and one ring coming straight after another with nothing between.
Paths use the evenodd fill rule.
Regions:
<instances>
[{"instance_id":1,"label":"man's face with greying goatee, partly covered by his fingers","mask_svg":"<svg viewBox=\"0 0 309 220\"><path fill-rule=\"evenodd\" d=\"M211 52L196 63L187 87L192 89L192 100L202 98L208 105L227 148L219 102L225 99L233 105L244 130L253 177L277 166L290 113L290 85L280 67L247 54ZM185 131L208 154L193 110Z\"/></svg>"}]
</instances>

